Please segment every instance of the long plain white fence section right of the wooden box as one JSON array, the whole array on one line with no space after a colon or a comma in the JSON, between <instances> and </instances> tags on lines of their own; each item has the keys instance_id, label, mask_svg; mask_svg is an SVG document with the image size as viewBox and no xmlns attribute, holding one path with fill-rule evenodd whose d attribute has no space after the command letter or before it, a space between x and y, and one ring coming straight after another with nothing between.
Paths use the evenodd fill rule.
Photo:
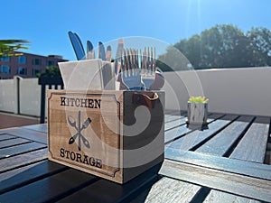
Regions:
<instances>
[{"instance_id":1,"label":"long plain white fence section right of the wooden box","mask_svg":"<svg viewBox=\"0 0 271 203\"><path fill-rule=\"evenodd\" d=\"M189 96L204 94L210 98L210 112L271 115L271 67L180 71L164 76L169 81L164 86L166 109L186 109Z\"/></svg>"}]
</instances>

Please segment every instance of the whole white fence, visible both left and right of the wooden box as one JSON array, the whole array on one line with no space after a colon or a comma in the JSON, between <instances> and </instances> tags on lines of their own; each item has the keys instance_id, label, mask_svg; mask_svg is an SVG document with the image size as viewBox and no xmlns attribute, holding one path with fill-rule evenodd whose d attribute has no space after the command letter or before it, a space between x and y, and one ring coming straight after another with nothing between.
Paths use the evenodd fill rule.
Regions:
<instances>
[{"instance_id":1,"label":"whole white fence, visible both left and right of the wooden box","mask_svg":"<svg viewBox=\"0 0 271 203\"><path fill-rule=\"evenodd\" d=\"M271 115L271 67L165 72L164 78L165 109L186 110L190 96L204 95L210 112ZM0 80L0 111L40 116L40 106L37 78Z\"/></svg>"}]
</instances>

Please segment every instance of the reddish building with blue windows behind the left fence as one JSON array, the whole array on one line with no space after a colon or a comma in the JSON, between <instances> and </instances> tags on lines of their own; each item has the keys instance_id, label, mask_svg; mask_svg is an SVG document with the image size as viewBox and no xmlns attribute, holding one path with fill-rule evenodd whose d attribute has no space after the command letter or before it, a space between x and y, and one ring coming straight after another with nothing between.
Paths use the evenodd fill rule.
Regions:
<instances>
[{"instance_id":1,"label":"reddish building with blue windows behind the left fence","mask_svg":"<svg viewBox=\"0 0 271 203\"><path fill-rule=\"evenodd\" d=\"M46 67L58 66L63 60L59 55L41 56L32 53L24 53L22 56L0 58L0 79L36 78L37 73L45 71Z\"/></svg>"}]
</instances>

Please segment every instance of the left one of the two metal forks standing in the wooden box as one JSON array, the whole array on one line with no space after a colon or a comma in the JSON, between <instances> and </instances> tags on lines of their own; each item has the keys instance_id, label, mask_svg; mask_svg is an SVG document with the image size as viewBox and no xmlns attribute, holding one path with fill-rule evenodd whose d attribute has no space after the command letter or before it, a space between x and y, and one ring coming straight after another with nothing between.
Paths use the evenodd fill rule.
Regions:
<instances>
[{"instance_id":1,"label":"left one of the two metal forks standing in the wooden box","mask_svg":"<svg viewBox=\"0 0 271 203\"><path fill-rule=\"evenodd\" d=\"M121 78L129 90L141 90L142 88L141 75L135 55L135 50L126 49L121 57Z\"/></svg>"}]
</instances>

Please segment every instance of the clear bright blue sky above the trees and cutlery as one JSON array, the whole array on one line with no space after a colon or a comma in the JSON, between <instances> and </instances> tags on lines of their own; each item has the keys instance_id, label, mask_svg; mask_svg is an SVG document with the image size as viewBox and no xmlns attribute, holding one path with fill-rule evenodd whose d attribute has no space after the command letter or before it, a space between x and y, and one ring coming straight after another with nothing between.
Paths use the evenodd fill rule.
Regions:
<instances>
[{"instance_id":1,"label":"clear bright blue sky above the trees and cutlery","mask_svg":"<svg viewBox=\"0 0 271 203\"><path fill-rule=\"evenodd\" d=\"M216 24L271 30L269 0L14 0L1 2L0 39L32 42L27 52L76 60L68 32L83 44L143 36L173 44ZM113 51L117 47L113 47Z\"/></svg>"}]
</instances>

